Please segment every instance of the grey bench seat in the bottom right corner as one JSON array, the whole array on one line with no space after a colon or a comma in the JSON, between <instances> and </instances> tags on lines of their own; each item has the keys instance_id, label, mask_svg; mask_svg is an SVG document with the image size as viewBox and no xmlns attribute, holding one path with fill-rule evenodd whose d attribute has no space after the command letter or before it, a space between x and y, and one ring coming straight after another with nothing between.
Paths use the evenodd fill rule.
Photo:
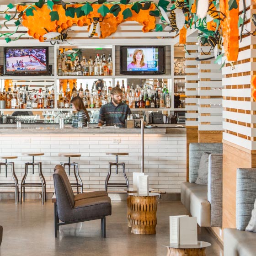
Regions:
<instances>
[{"instance_id":1,"label":"grey bench seat in the bottom right corner","mask_svg":"<svg viewBox=\"0 0 256 256\"><path fill-rule=\"evenodd\" d=\"M224 229L225 256L255 256L256 234L237 229Z\"/></svg>"}]
</instances>

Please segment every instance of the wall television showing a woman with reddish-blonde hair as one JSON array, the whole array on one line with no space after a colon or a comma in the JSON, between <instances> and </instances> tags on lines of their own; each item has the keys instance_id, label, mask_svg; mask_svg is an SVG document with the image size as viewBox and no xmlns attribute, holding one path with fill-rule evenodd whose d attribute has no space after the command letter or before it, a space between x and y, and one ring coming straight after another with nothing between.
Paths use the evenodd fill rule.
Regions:
<instances>
[{"instance_id":1,"label":"wall television showing a woman with reddish-blonde hair","mask_svg":"<svg viewBox=\"0 0 256 256\"><path fill-rule=\"evenodd\" d=\"M165 74L165 46L120 46L120 74Z\"/></svg>"}]
</instances>

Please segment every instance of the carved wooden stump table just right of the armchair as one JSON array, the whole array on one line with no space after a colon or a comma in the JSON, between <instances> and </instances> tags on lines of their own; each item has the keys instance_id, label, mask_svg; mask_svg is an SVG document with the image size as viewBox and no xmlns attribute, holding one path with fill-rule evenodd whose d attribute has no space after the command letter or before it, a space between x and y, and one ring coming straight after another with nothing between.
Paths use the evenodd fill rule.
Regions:
<instances>
[{"instance_id":1,"label":"carved wooden stump table just right of the armchair","mask_svg":"<svg viewBox=\"0 0 256 256\"><path fill-rule=\"evenodd\" d=\"M130 206L130 224L133 234L151 235L155 234L157 224L157 197L158 193L149 193L149 195L138 195L138 193L129 193Z\"/></svg>"}]
</instances>

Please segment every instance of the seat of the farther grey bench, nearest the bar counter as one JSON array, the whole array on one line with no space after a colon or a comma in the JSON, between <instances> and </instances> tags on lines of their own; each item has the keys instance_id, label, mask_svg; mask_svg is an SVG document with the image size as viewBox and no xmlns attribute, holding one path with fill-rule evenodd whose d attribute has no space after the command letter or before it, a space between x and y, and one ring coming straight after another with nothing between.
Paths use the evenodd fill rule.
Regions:
<instances>
[{"instance_id":1,"label":"seat of the farther grey bench, nearest the bar counter","mask_svg":"<svg viewBox=\"0 0 256 256\"><path fill-rule=\"evenodd\" d=\"M200 227L210 226L211 206L207 200L207 185L182 182L181 203L192 216L197 217L197 224Z\"/></svg>"}]
</instances>

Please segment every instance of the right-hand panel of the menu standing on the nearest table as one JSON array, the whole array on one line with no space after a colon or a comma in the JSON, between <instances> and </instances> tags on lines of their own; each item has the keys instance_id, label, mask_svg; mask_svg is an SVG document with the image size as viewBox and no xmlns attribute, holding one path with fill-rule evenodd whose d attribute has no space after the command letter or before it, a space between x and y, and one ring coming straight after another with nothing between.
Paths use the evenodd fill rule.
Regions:
<instances>
[{"instance_id":1,"label":"right-hand panel of the menu standing on the nearest table","mask_svg":"<svg viewBox=\"0 0 256 256\"><path fill-rule=\"evenodd\" d=\"M180 244L197 245L197 217L180 218Z\"/></svg>"}]
</instances>

